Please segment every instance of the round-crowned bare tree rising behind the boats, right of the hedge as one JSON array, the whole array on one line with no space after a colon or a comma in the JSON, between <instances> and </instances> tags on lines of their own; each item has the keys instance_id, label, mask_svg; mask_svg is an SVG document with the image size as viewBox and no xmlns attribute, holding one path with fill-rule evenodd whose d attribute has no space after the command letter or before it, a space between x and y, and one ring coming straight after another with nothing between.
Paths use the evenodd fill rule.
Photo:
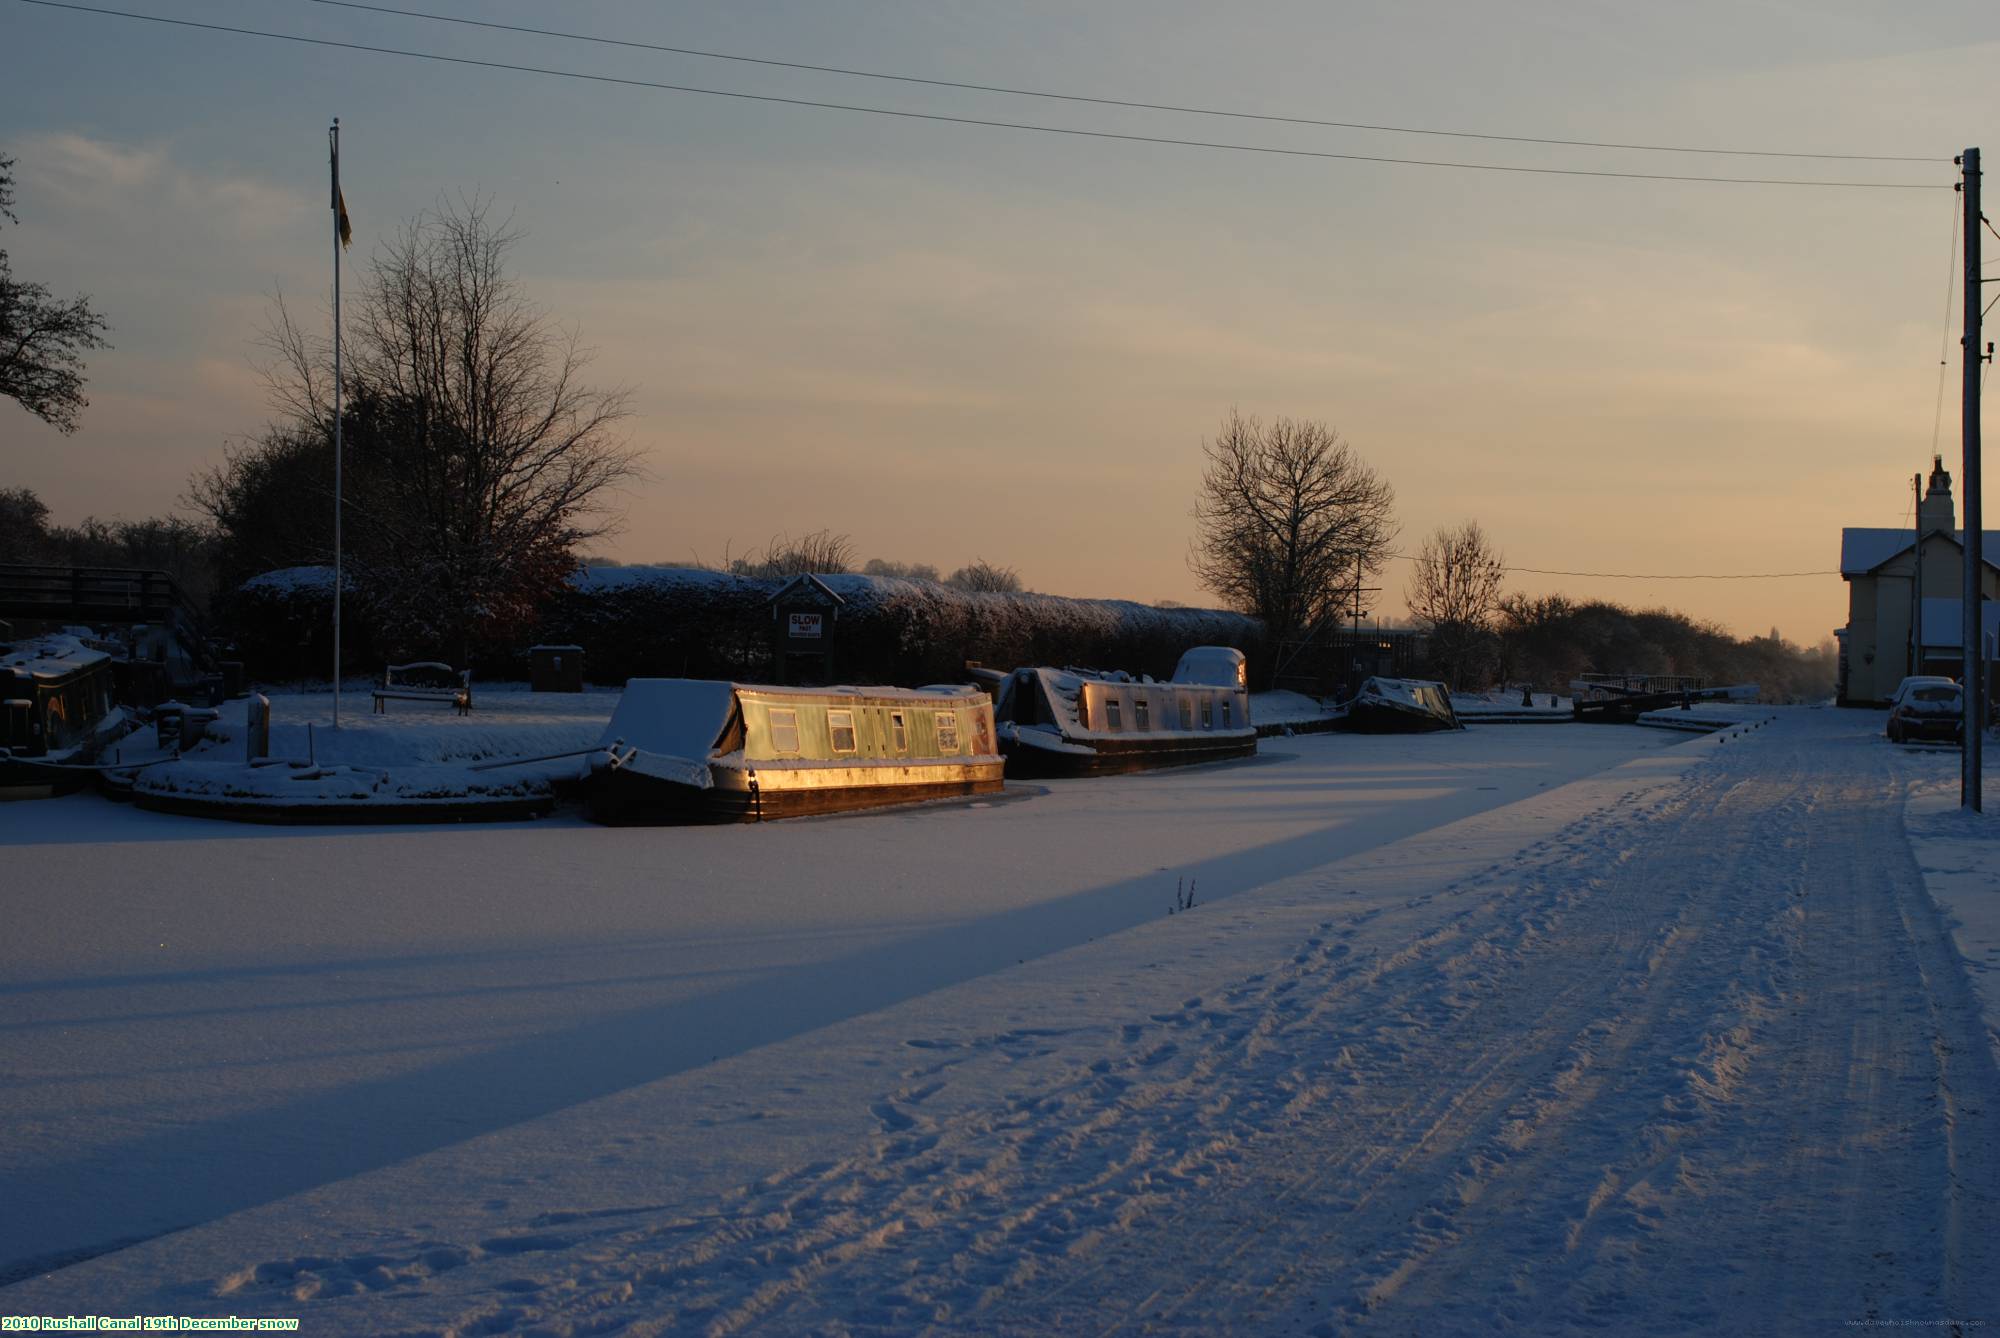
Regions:
<instances>
[{"instance_id":1,"label":"round-crowned bare tree rising behind the boats, right of the hedge","mask_svg":"<svg viewBox=\"0 0 2000 1338\"><path fill-rule=\"evenodd\" d=\"M1338 618L1356 572L1382 570L1396 492L1330 426L1232 410L1202 454L1188 566L1272 642Z\"/></svg>"}]
</instances>

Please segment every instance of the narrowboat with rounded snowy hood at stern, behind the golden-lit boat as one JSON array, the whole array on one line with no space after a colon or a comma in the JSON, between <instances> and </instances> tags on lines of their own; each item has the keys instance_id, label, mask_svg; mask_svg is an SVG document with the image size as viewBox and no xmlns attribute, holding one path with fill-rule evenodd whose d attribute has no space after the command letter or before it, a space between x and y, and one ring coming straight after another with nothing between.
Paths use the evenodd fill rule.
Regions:
<instances>
[{"instance_id":1,"label":"narrowboat with rounded snowy hood at stern, behind the golden-lit boat","mask_svg":"<svg viewBox=\"0 0 2000 1338\"><path fill-rule=\"evenodd\" d=\"M1014 776L1100 776L1256 752L1244 656L1232 646L1196 646L1168 682L1082 668L1020 668L988 682Z\"/></svg>"}]
</instances>

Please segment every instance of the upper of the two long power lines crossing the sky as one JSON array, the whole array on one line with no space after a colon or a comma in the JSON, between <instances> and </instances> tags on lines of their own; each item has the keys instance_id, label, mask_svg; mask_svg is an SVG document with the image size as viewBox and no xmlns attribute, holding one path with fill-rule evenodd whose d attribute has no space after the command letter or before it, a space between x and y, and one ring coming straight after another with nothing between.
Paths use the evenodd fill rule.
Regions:
<instances>
[{"instance_id":1,"label":"upper of the two long power lines crossing the sky","mask_svg":"<svg viewBox=\"0 0 2000 1338\"><path fill-rule=\"evenodd\" d=\"M1376 130L1382 134L1428 134L1450 140L1496 140L1504 144L1556 144L1562 148L1618 148L1648 154L1720 154L1732 158L1818 158L1832 162L1946 162L1936 154L1814 154L1772 148L1694 148L1686 144L1622 144L1616 140L1558 140L1534 134L1486 134L1478 130L1428 130L1420 126L1388 126L1366 120L1322 120L1316 116L1278 116L1270 112L1234 112L1212 106L1188 106L1180 102L1138 102L1130 98L1104 98L1074 92L1050 92L1046 88L1010 88L1006 84L972 84L964 80L926 78L918 74L890 74L884 70L854 70L848 66L820 66L804 60L776 60L770 56L742 56L738 52L716 52L696 46L666 46L662 42L634 42L628 38L604 38L588 32L560 32L556 28L530 28L526 24L500 24L486 18L462 18L458 14L432 14L426 10L400 10L388 4L362 4L360 0L308 0L342 10L366 10L370 14L394 14L398 18L422 18L436 24L460 24L466 28L492 28L536 38L560 38L566 42L592 42L596 46L622 46L642 52L664 52L672 56L698 56L702 60L734 60L738 64L772 66L778 70L810 70L814 74L840 74L844 78L872 78L894 84L922 84L926 88L960 88L966 92L994 92L1010 98L1046 98L1050 102L1084 102L1090 106L1124 106L1142 112L1178 112L1186 116L1224 116L1230 120L1260 120L1282 126L1326 126L1334 130Z\"/></svg>"}]
</instances>

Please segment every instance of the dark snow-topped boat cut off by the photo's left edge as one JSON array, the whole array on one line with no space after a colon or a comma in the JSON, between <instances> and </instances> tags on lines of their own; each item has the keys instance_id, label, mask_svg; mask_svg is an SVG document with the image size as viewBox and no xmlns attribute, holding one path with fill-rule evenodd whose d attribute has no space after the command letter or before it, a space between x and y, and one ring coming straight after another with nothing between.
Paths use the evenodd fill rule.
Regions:
<instances>
[{"instance_id":1,"label":"dark snow-topped boat cut off by the photo's left edge","mask_svg":"<svg viewBox=\"0 0 2000 1338\"><path fill-rule=\"evenodd\" d=\"M66 794L132 728L112 706L112 656L68 632L0 642L0 798Z\"/></svg>"}]
</instances>

